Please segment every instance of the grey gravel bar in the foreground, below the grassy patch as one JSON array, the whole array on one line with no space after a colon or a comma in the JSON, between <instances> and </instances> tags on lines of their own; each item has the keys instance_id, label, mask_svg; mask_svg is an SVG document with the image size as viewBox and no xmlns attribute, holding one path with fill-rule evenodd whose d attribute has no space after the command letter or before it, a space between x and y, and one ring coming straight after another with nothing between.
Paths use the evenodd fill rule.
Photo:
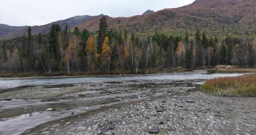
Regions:
<instances>
[{"instance_id":1,"label":"grey gravel bar in the foreground, below the grassy patch","mask_svg":"<svg viewBox=\"0 0 256 135\"><path fill-rule=\"evenodd\" d=\"M256 135L255 98L199 91L148 99L37 127L26 135Z\"/></svg>"}]
</instances>

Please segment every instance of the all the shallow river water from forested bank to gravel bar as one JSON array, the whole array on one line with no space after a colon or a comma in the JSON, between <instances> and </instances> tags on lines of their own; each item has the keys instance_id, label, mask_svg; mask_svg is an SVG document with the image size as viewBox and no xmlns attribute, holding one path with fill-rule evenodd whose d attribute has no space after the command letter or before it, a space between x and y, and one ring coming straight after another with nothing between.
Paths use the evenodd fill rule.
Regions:
<instances>
[{"instance_id":1,"label":"all the shallow river water from forested bank to gravel bar","mask_svg":"<svg viewBox=\"0 0 256 135\"><path fill-rule=\"evenodd\" d=\"M43 123L62 122L61 119L73 115L84 115L120 103L186 95L199 91L205 80L238 75L242 74L193 71L55 79L0 78L0 135L32 134ZM53 110L46 111L49 108ZM52 134L45 132L45 135Z\"/></svg>"}]
</instances>

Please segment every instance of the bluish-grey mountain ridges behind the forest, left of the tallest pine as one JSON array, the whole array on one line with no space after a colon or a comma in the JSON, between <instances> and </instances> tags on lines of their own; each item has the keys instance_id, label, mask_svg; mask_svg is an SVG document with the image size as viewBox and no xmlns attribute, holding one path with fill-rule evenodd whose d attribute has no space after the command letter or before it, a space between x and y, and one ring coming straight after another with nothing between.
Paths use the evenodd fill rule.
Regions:
<instances>
[{"instance_id":1,"label":"bluish-grey mountain ridges behind the forest, left of the tallest pine","mask_svg":"<svg viewBox=\"0 0 256 135\"><path fill-rule=\"evenodd\" d=\"M68 18L66 20L59 20L56 22L52 22L50 24L45 24L41 26L32 26L32 34L39 34L39 33L46 33L49 31L51 28L52 24L59 24L60 28L64 29L66 24L68 24L69 28L75 27L83 22L94 20L94 19L100 19L103 14L99 16L75 16L72 18ZM8 25L7 25L8 26ZM1 25L0 25L0 33L3 33L0 35L0 38L8 38L8 37L14 37L14 36L22 36L24 33L28 32L28 26L24 27L14 27L14 26L9 26L10 30L9 31L2 31ZM12 29L11 29L12 28ZM16 28L16 29L15 29Z\"/></svg>"}]
</instances>

